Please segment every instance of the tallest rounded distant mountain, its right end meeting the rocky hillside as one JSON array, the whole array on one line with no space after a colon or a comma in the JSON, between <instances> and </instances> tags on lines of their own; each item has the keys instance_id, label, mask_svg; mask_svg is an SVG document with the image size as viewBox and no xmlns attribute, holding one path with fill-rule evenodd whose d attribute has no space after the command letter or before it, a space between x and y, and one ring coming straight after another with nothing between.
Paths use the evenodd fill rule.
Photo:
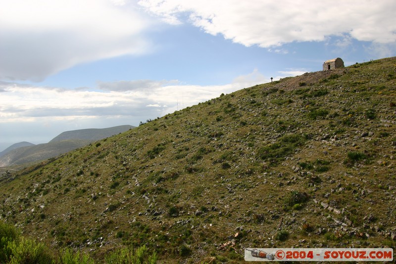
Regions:
<instances>
[{"instance_id":1,"label":"tallest rounded distant mountain, its right end meeting the rocky hillside","mask_svg":"<svg viewBox=\"0 0 396 264\"><path fill-rule=\"evenodd\" d=\"M80 140L91 140L97 141L103 138L111 137L119 133L125 132L134 126L122 125L108 128L89 128L79 129L60 133L49 142L56 142L68 139L80 139Z\"/></svg>"}]
</instances>

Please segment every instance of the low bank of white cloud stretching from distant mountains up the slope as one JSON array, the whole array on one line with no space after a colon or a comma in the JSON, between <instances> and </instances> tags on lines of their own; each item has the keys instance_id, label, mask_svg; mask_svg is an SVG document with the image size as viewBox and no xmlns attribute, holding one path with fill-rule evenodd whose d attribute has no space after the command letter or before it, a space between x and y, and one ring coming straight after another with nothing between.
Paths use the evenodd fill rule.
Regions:
<instances>
[{"instance_id":1,"label":"low bank of white cloud stretching from distant mountains up the slope","mask_svg":"<svg viewBox=\"0 0 396 264\"><path fill-rule=\"evenodd\" d=\"M138 125L140 121L205 102L222 93L268 81L257 69L226 85L182 85L166 80L99 83L105 91L0 81L0 139L36 144L48 142L67 130Z\"/></svg>"}]
</instances>

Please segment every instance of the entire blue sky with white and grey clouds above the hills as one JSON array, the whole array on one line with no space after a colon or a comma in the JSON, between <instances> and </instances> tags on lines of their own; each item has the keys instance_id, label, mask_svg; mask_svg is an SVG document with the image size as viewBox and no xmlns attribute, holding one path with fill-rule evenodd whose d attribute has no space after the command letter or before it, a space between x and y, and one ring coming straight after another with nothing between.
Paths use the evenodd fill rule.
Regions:
<instances>
[{"instance_id":1,"label":"entire blue sky with white and grey clouds above the hills","mask_svg":"<svg viewBox=\"0 0 396 264\"><path fill-rule=\"evenodd\" d=\"M395 0L0 6L0 143L137 126L271 77L321 70L330 58L351 65L396 55Z\"/></svg>"}]
</instances>

